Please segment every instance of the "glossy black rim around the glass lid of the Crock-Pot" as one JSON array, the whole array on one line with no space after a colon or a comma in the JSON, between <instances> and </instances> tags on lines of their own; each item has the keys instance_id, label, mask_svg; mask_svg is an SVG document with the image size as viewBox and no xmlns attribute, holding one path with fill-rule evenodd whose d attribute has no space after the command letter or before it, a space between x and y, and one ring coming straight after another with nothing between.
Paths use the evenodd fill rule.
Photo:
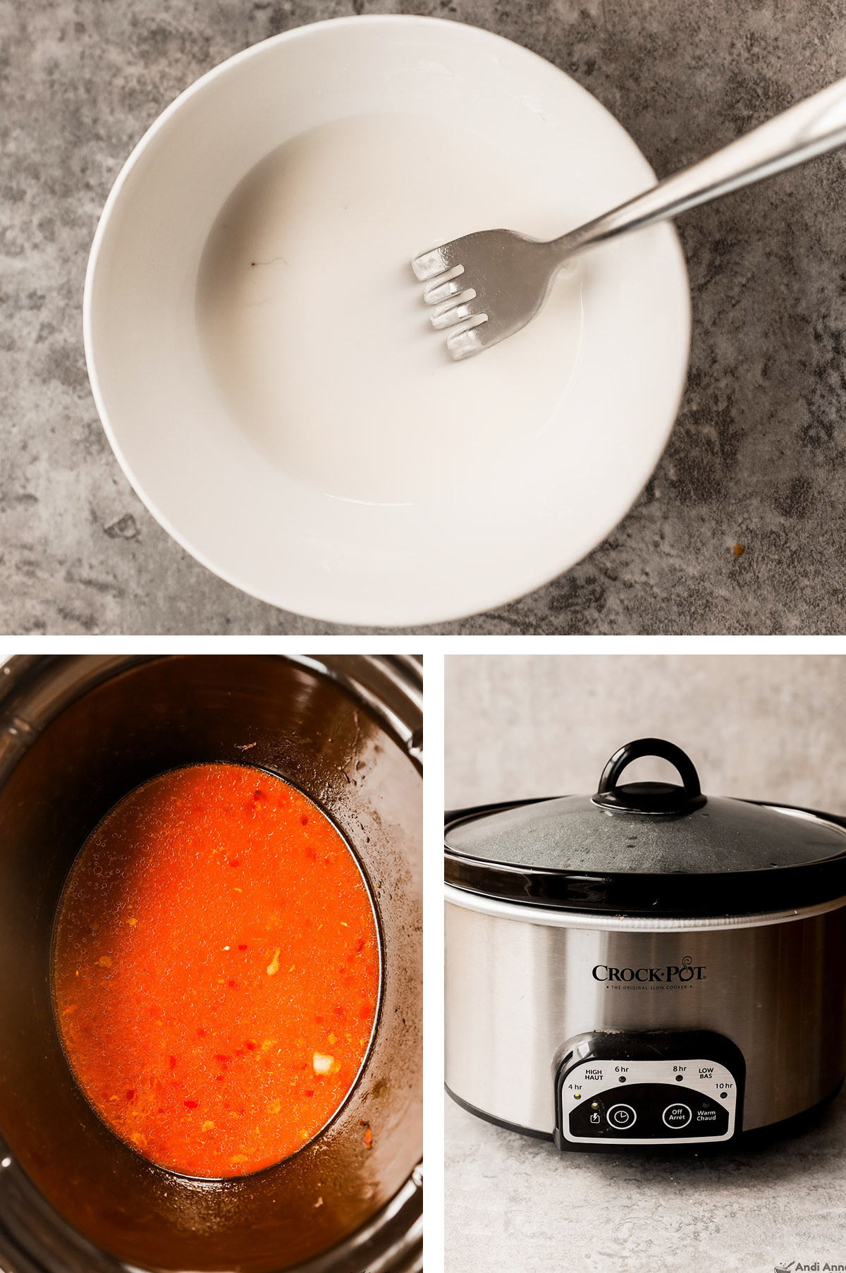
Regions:
<instances>
[{"instance_id":1,"label":"glossy black rim around the glass lid of the Crock-Pot","mask_svg":"<svg viewBox=\"0 0 846 1273\"><path fill-rule=\"evenodd\" d=\"M517 807L534 801L515 801ZM539 803L539 802L537 802ZM773 801L743 801L763 808L810 813L846 827L846 817ZM459 810L448 826L494 812L494 806ZM842 854L818 862L757 871L645 875L642 872L578 872L486 862L444 845L444 878L454 887L527 906L595 914L660 915L683 919L716 915L772 914L800 910L846 895L846 845Z\"/></svg>"}]
</instances>

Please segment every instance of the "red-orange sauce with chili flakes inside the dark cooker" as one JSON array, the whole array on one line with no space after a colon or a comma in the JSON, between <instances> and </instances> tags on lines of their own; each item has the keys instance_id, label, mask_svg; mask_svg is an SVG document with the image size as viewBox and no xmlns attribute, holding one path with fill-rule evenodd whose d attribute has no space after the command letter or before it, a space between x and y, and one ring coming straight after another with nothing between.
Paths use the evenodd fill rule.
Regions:
<instances>
[{"instance_id":1,"label":"red-orange sauce with chili flakes inside the dark cooker","mask_svg":"<svg viewBox=\"0 0 846 1273\"><path fill-rule=\"evenodd\" d=\"M300 792L246 765L139 787L74 863L53 946L81 1090L139 1153L247 1175L338 1109L379 990L373 906Z\"/></svg>"}]
</instances>

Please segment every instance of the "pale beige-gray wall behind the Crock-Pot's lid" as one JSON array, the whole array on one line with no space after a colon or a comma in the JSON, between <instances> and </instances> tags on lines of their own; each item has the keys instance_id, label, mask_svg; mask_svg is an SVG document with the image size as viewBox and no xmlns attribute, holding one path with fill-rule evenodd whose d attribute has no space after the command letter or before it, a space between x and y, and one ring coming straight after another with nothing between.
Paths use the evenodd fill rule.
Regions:
<instances>
[{"instance_id":1,"label":"pale beige-gray wall behind the Crock-Pot's lid","mask_svg":"<svg viewBox=\"0 0 846 1273\"><path fill-rule=\"evenodd\" d=\"M447 806L594 792L632 738L669 738L712 796L846 813L841 654L450 654ZM625 782L678 782L639 760Z\"/></svg>"}]
</instances>

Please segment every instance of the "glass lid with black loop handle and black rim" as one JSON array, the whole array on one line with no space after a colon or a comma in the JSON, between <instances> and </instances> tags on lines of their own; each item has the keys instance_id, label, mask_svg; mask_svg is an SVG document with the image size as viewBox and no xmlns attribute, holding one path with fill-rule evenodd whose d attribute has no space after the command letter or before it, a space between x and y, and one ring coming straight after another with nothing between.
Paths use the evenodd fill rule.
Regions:
<instances>
[{"instance_id":1,"label":"glass lid with black loop handle and black rim","mask_svg":"<svg viewBox=\"0 0 846 1273\"><path fill-rule=\"evenodd\" d=\"M640 756L681 783L621 784ZM459 811L445 831L450 883L489 896L604 913L701 915L795 909L846 894L846 820L704 796L690 757L640 738L594 796Z\"/></svg>"}]
</instances>

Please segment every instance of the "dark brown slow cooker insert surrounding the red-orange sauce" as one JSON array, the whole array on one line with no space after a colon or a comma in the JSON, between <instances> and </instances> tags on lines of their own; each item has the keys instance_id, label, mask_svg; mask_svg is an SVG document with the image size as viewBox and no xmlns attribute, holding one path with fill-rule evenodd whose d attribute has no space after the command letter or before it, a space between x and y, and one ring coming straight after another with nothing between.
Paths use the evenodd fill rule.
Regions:
<instances>
[{"instance_id":1,"label":"dark brown slow cooker insert surrounding the red-orange sauce","mask_svg":"<svg viewBox=\"0 0 846 1273\"><path fill-rule=\"evenodd\" d=\"M405 657L13 658L0 668L0 1264L360 1273L420 1267L421 670ZM51 1003L56 906L103 815L149 778L240 761L305 792L359 858L377 1027L331 1123L252 1176L188 1179L76 1086ZM365 1136L366 1129L370 1129Z\"/></svg>"}]
</instances>

